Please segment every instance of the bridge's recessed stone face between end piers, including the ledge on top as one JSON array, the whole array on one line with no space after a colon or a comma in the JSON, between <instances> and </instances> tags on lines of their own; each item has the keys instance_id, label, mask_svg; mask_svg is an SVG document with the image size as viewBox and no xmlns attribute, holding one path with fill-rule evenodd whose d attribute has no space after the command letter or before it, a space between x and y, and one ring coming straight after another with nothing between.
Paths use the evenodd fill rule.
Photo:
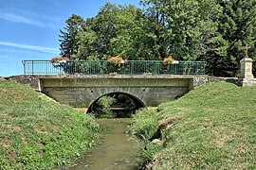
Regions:
<instances>
[{"instance_id":1,"label":"bridge's recessed stone face between end piers, including the ledge on top","mask_svg":"<svg viewBox=\"0 0 256 170\"><path fill-rule=\"evenodd\" d=\"M192 89L192 78L101 77L40 78L41 90L57 101L75 107L89 107L107 93L126 93L144 106L174 100Z\"/></svg>"}]
</instances>

